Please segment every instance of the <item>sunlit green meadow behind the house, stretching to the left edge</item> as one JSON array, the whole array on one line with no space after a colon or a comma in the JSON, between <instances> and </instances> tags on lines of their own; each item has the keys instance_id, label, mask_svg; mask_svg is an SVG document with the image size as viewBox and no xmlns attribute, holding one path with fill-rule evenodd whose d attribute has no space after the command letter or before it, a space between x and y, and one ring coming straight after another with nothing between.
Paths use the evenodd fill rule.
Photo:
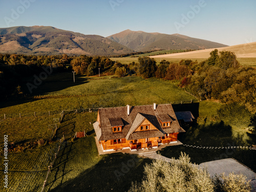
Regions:
<instances>
[{"instance_id":1,"label":"sunlit green meadow behind the house, stretching to the left edge","mask_svg":"<svg viewBox=\"0 0 256 192\"><path fill-rule=\"evenodd\" d=\"M0 109L0 131L10 135L9 142L49 138L51 130L48 125L53 124L53 118L60 118L59 114L62 110L125 106L126 104L143 105L154 102L180 103L182 101L184 103L190 102L191 99L197 101L196 98L177 87L174 82L156 78L79 77L79 80L76 81L77 85L74 85L71 79L70 82L64 83L66 88L60 87L65 76L69 76L69 74L57 74L42 83L34 91L34 94L40 95L38 99L3 103L6 107ZM73 87L69 83L72 83ZM54 113L55 115L49 116L49 111L50 114ZM37 114L36 117L33 117L34 112ZM19 118L19 113L22 118ZM4 120L4 114L6 117L15 118ZM72 124L73 133L83 131L84 127L87 129L89 125L90 129L93 129L89 124L89 122L95 121L96 116L93 114L88 119L83 118L83 114L72 117L73 120L67 123ZM79 122L80 124L78 124ZM63 123L58 124L58 127L61 128L61 126ZM88 131L90 130L88 129Z\"/></svg>"}]
</instances>

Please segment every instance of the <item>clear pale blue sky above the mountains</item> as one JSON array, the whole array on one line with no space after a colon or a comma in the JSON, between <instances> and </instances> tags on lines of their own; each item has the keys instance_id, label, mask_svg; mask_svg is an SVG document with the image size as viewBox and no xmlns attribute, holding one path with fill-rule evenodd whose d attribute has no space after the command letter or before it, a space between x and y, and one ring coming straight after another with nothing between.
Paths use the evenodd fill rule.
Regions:
<instances>
[{"instance_id":1,"label":"clear pale blue sky above the mountains","mask_svg":"<svg viewBox=\"0 0 256 192\"><path fill-rule=\"evenodd\" d=\"M104 37L130 29L231 46L256 41L255 10L255 0L0 0L0 28L53 26Z\"/></svg>"}]
</instances>

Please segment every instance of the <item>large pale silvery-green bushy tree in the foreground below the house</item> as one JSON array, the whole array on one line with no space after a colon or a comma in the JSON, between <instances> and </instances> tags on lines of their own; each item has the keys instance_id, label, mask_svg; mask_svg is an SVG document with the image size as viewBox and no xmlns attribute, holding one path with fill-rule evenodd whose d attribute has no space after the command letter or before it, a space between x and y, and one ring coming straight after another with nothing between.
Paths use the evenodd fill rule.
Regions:
<instances>
[{"instance_id":1,"label":"large pale silvery-green bushy tree in the foreground below the house","mask_svg":"<svg viewBox=\"0 0 256 192\"><path fill-rule=\"evenodd\" d=\"M144 167L144 179L141 183L132 183L129 192L149 191L214 191L206 169L190 162L190 158L181 153L178 160L170 163L155 160Z\"/></svg>"}]
</instances>

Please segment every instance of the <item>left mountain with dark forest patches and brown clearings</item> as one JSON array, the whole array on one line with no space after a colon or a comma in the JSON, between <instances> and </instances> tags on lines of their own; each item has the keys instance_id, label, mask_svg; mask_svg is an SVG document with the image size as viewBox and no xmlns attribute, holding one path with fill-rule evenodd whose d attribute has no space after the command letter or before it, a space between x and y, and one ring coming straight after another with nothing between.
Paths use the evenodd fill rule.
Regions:
<instances>
[{"instance_id":1,"label":"left mountain with dark forest patches and brown clearings","mask_svg":"<svg viewBox=\"0 0 256 192\"><path fill-rule=\"evenodd\" d=\"M54 27L0 28L0 53L119 55L131 53L115 41Z\"/></svg>"}]
</instances>

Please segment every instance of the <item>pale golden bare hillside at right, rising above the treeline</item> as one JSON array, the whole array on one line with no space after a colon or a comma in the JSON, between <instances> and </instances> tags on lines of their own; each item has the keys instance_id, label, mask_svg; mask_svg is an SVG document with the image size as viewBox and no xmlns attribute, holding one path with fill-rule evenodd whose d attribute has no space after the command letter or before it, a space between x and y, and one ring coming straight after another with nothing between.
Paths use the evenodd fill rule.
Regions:
<instances>
[{"instance_id":1,"label":"pale golden bare hillside at right, rising above the treeline","mask_svg":"<svg viewBox=\"0 0 256 192\"><path fill-rule=\"evenodd\" d=\"M234 52L238 58L245 58L245 57L256 57L256 42L250 42L248 44L240 44L236 46L229 46L229 47L221 47L217 48L219 51L231 51ZM173 54L166 54L166 55L155 55L151 56L152 58L208 58L210 56L210 52L214 49L205 49L199 51L191 51L185 53L173 53Z\"/></svg>"}]
</instances>

